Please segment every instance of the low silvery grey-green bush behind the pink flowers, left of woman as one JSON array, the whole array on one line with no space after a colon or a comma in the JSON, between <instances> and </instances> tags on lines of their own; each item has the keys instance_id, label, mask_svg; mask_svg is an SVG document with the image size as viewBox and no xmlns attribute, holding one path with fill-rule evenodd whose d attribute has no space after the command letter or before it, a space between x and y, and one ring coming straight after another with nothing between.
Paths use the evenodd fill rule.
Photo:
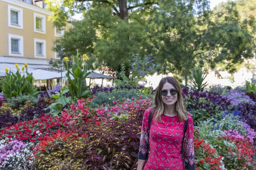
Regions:
<instances>
[{"instance_id":1,"label":"low silvery grey-green bush behind the pink flowers, left of woman","mask_svg":"<svg viewBox=\"0 0 256 170\"><path fill-rule=\"evenodd\" d=\"M95 95L95 98L91 101L91 107L97 108L100 105L115 105L113 101L125 100L125 99L137 99L140 98L140 95L143 95L142 92L132 89L128 90L118 90L112 91L111 93L99 92Z\"/></svg>"}]
</instances>

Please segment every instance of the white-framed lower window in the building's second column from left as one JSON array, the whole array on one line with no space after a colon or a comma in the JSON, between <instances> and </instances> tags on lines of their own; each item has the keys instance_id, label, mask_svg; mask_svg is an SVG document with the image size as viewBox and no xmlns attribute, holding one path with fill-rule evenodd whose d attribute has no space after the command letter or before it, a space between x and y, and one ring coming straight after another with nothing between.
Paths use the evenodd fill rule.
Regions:
<instances>
[{"instance_id":1,"label":"white-framed lower window in the building's second column from left","mask_svg":"<svg viewBox=\"0 0 256 170\"><path fill-rule=\"evenodd\" d=\"M46 58L46 40L34 39L35 58Z\"/></svg>"}]
</instances>

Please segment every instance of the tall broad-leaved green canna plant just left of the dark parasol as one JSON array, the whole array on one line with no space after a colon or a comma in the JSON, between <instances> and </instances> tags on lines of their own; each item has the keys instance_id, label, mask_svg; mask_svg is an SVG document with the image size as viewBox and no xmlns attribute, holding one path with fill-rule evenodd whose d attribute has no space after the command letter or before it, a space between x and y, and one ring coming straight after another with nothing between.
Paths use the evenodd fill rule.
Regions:
<instances>
[{"instance_id":1,"label":"tall broad-leaved green canna plant just left of the dark parasol","mask_svg":"<svg viewBox=\"0 0 256 170\"><path fill-rule=\"evenodd\" d=\"M85 60L86 59L79 58L79 53L77 51L76 56L72 56L73 65L71 68L68 61L65 61L66 64L64 64L67 70L66 76L69 82L69 93L73 99L87 98L90 95L90 85L86 85L86 77L90 74L90 72L87 70ZM74 78L72 78L71 75Z\"/></svg>"}]
</instances>

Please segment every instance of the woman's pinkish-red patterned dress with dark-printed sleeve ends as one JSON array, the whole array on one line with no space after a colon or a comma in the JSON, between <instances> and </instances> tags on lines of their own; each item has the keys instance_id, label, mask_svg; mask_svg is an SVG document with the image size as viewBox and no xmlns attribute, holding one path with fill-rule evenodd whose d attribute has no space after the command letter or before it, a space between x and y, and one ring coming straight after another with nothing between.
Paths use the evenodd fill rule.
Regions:
<instances>
[{"instance_id":1,"label":"woman's pinkish-red patterned dress with dark-printed sleeve ends","mask_svg":"<svg viewBox=\"0 0 256 170\"><path fill-rule=\"evenodd\" d=\"M151 108L148 108L144 113L140 137L138 158L148 159L143 170L185 170L180 153L185 121L178 121L177 116L166 115L162 115L161 123L152 119L148 137L150 110ZM190 115L188 116L188 127L183 142L183 156L186 164L194 169L193 120Z\"/></svg>"}]
</instances>

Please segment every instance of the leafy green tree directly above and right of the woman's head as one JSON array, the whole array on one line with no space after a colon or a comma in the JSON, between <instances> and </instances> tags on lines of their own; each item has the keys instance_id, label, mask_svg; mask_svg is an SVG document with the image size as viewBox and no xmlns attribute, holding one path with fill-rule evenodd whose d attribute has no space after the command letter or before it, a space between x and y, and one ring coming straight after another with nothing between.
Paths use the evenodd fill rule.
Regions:
<instances>
[{"instance_id":1,"label":"leafy green tree directly above and right of the woman's head","mask_svg":"<svg viewBox=\"0 0 256 170\"><path fill-rule=\"evenodd\" d=\"M149 48L165 69L187 79L195 65L227 61L228 67L253 57L253 18L240 21L235 3L209 10L208 0L163 0L151 17Z\"/></svg>"}]
</instances>

